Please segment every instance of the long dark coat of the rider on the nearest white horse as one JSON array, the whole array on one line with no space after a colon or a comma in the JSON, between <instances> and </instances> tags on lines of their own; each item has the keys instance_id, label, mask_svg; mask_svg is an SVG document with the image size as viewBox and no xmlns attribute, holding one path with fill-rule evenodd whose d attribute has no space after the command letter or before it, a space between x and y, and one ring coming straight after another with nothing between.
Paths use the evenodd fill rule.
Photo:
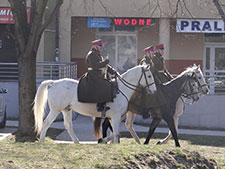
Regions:
<instances>
[{"instance_id":1,"label":"long dark coat of the rider on the nearest white horse","mask_svg":"<svg viewBox=\"0 0 225 169\"><path fill-rule=\"evenodd\" d=\"M88 72L85 73L78 85L78 101L88 103L103 103L113 101L113 87L107 73L113 74L114 69L108 65L100 52L92 48L86 56ZM107 72L104 68L107 67Z\"/></svg>"}]
</instances>

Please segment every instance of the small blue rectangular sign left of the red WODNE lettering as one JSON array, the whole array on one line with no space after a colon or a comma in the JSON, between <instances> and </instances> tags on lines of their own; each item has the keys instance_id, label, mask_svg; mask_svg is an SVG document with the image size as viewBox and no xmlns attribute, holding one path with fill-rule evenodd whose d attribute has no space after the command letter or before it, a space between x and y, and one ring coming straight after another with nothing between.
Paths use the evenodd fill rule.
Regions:
<instances>
[{"instance_id":1,"label":"small blue rectangular sign left of the red WODNE lettering","mask_svg":"<svg viewBox=\"0 0 225 169\"><path fill-rule=\"evenodd\" d=\"M110 18L88 18L89 28L109 28Z\"/></svg>"}]
</instances>

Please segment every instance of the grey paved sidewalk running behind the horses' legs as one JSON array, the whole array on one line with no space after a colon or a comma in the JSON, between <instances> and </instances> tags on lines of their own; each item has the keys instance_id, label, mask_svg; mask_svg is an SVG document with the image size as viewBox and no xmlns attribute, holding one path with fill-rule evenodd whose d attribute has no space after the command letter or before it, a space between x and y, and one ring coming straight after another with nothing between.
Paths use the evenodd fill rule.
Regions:
<instances>
[{"instance_id":1,"label":"grey paved sidewalk running behind the horses' legs","mask_svg":"<svg viewBox=\"0 0 225 169\"><path fill-rule=\"evenodd\" d=\"M0 140L11 135L16 131L18 126L17 121L7 121L6 128L0 129ZM15 128L14 128L15 127ZM64 129L64 131L56 137L56 142L68 143L71 142L71 138L64 128L63 121L54 122L51 128ZM75 120L73 120L73 129L77 135L80 143L93 144L96 143L94 137L94 127L93 120L91 117L78 115ZM149 127L134 125L135 131L147 132ZM120 131L128 131L125 127L124 122L120 125ZM156 133L168 133L168 128L157 128ZM179 134L192 134L192 135L210 135L210 136L225 136L225 131L211 131L211 130L191 130L191 129L179 129Z\"/></svg>"}]
</instances>

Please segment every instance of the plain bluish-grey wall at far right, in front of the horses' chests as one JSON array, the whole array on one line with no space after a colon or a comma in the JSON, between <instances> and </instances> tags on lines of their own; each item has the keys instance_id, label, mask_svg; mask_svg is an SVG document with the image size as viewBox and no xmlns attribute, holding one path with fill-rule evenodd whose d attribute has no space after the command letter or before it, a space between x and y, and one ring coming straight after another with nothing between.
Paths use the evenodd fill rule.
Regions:
<instances>
[{"instance_id":1,"label":"plain bluish-grey wall at far right, in front of the horses' chests","mask_svg":"<svg viewBox=\"0 0 225 169\"><path fill-rule=\"evenodd\" d=\"M151 123L151 119L143 120L142 116L136 116L135 121ZM166 123L162 121L161 124ZM179 126L225 130L225 96L202 96L198 102L186 104L184 113L179 118Z\"/></svg>"}]
</instances>

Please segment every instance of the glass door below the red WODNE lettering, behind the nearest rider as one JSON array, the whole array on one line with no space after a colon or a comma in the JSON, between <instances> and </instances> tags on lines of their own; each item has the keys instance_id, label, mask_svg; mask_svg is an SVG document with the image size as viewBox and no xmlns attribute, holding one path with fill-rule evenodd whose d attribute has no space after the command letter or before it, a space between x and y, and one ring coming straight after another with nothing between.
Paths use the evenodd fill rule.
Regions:
<instances>
[{"instance_id":1,"label":"glass door below the red WODNE lettering, behind the nearest rider","mask_svg":"<svg viewBox=\"0 0 225 169\"><path fill-rule=\"evenodd\" d=\"M103 56L109 56L109 64L119 73L137 65L137 38L136 34L98 34L102 39Z\"/></svg>"}]
</instances>

